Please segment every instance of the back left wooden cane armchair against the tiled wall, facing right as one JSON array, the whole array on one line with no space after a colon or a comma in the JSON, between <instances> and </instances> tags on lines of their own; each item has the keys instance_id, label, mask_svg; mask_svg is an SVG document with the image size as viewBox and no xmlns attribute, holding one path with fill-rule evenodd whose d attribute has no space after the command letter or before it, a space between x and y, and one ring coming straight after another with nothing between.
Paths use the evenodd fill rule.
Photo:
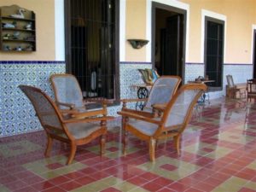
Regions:
<instances>
[{"instance_id":1,"label":"back left wooden cane armchair against the tiled wall, facing right","mask_svg":"<svg viewBox=\"0 0 256 192\"><path fill-rule=\"evenodd\" d=\"M74 118L107 115L107 104L111 101L98 98L84 100L79 82L72 74L53 74L49 80L55 93L55 103L62 113L72 113ZM87 110L86 104L91 102L100 102L102 108Z\"/></svg>"}]
</instances>

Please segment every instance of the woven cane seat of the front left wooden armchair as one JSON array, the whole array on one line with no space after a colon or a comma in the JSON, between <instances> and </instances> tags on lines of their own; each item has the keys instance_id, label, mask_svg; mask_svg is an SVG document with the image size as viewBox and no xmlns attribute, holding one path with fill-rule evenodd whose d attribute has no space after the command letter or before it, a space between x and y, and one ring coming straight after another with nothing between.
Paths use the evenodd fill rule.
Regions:
<instances>
[{"instance_id":1,"label":"woven cane seat of the front left wooden armchair","mask_svg":"<svg viewBox=\"0 0 256 192\"><path fill-rule=\"evenodd\" d=\"M72 123L67 124L67 129L75 139L80 139L89 136L94 131L100 130L101 125L92 123Z\"/></svg>"}]
</instances>

